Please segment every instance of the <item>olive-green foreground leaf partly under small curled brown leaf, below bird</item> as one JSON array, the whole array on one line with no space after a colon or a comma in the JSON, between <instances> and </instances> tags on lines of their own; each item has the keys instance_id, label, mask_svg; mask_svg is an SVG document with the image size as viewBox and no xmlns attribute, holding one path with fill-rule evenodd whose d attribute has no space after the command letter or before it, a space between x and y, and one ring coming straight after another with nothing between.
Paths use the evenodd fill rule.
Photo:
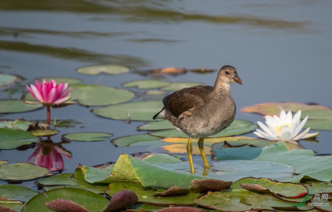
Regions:
<instances>
[{"instance_id":1,"label":"olive-green foreground leaf partly under small curled brown leaf, below bird","mask_svg":"<svg viewBox=\"0 0 332 212\"><path fill-rule=\"evenodd\" d=\"M147 203L150 205L187 205L187 206L194 206L194 199L201 196L199 193L191 193L182 196L171 196L171 197L154 197L152 194L153 189L150 187L143 187L138 182L114 182L109 185L110 190L106 191L105 193L113 196L115 193L119 192L122 189L132 190L137 194L138 202ZM165 191L165 189L158 189L159 192Z\"/></svg>"}]
</instances>

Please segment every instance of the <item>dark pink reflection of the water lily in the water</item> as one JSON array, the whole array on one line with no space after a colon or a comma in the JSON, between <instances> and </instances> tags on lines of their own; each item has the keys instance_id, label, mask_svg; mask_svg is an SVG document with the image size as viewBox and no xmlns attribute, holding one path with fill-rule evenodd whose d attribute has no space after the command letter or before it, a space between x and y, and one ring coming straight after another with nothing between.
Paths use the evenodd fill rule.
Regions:
<instances>
[{"instance_id":1,"label":"dark pink reflection of the water lily in the water","mask_svg":"<svg viewBox=\"0 0 332 212\"><path fill-rule=\"evenodd\" d=\"M28 158L28 163L35 157L34 164L45 167L49 171L57 171L64 168L62 156L71 159L72 154L62 147L61 143L53 143L50 139L37 144L35 152Z\"/></svg>"}]
</instances>

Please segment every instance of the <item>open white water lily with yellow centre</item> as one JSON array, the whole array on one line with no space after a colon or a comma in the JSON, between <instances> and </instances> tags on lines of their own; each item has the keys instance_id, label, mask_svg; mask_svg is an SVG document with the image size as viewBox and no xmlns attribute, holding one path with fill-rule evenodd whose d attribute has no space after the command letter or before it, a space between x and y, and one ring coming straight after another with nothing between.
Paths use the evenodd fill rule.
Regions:
<instances>
[{"instance_id":1,"label":"open white water lily with yellow centre","mask_svg":"<svg viewBox=\"0 0 332 212\"><path fill-rule=\"evenodd\" d=\"M267 115L265 121L267 126L260 121L257 122L264 131L257 129L254 134L260 138L272 141L297 141L299 139L312 138L319 134L319 132L308 133L310 128L307 128L297 135L308 119L308 116L306 116L302 122L300 122L300 117L301 110L295 113L294 117L292 117L290 111L286 114L284 110L280 112L280 117L277 115L273 117Z\"/></svg>"}]
</instances>

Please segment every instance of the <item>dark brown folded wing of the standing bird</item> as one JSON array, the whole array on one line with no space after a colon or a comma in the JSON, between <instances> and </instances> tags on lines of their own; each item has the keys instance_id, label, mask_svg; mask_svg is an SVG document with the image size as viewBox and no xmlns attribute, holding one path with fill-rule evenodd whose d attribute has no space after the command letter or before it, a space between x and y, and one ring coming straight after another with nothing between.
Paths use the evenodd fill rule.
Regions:
<instances>
[{"instance_id":1,"label":"dark brown folded wing of the standing bird","mask_svg":"<svg viewBox=\"0 0 332 212\"><path fill-rule=\"evenodd\" d=\"M212 86L194 86L176 91L163 99L165 108L175 117L189 109L203 105L206 95L212 91Z\"/></svg>"}]
</instances>

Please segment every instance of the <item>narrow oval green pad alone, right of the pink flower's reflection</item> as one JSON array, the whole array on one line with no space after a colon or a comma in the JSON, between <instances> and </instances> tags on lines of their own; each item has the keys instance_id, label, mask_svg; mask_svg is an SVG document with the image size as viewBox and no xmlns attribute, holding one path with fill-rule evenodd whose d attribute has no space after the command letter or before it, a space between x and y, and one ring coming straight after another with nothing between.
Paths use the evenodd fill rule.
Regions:
<instances>
[{"instance_id":1,"label":"narrow oval green pad alone, right of the pink flower's reflection","mask_svg":"<svg viewBox=\"0 0 332 212\"><path fill-rule=\"evenodd\" d=\"M108 140L108 137L112 137L111 133L102 133L102 132L81 132L81 133L70 133L64 134L61 137L65 140L74 140L74 141L105 141Z\"/></svg>"}]
</instances>

